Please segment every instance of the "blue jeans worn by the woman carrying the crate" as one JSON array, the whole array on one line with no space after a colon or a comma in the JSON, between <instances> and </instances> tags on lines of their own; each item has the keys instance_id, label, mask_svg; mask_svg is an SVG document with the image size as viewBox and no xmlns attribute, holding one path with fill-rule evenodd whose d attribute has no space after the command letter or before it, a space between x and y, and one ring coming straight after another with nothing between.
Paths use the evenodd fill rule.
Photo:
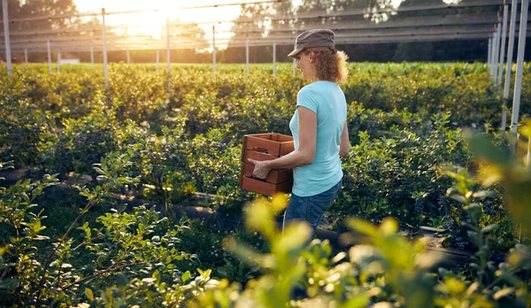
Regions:
<instances>
[{"instance_id":1,"label":"blue jeans worn by the woman carrying the crate","mask_svg":"<svg viewBox=\"0 0 531 308\"><path fill-rule=\"evenodd\" d=\"M312 241L315 234L315 229L319 226L319 222L323 219L325 212L330 205L334 203L335 196L342 187L342 181L337 182L331 189L315 196L296 196L291 194L288 207L284 212L284 223L282 230L292 222L304 221L312 227L312 235L308 239L308 243Z\"/></svg>"}]
</instances>

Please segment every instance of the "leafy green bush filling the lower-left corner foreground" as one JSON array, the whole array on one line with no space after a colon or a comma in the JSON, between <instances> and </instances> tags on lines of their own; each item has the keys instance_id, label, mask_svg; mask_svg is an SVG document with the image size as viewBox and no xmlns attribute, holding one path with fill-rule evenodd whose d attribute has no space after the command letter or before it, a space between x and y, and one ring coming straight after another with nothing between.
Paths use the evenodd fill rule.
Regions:
<instances>
[{"instance_id":1,"label":"leafy green bush filling the lower-left corner foreground","mask_svg":"<svg viewBox=\"0 0 531 308\"><path fill-rule=\"evenodd\" d=\"M180 241L177 236L186 226L172 225L167 218L159 219L153 209L140 206L127 213L121 208L96 219L101 227L91 227L88 222L77 227L84 232L84 237L69 236L81 216L92 206L104 202L112 190L138 183L137 179L123 175L129 166L127 155L112 153L102 158L101 164L95 166L99 174L97 180L102 184L94 189L80 189L87 204L60 238L41 235L45 229L42 219L46 218L42 214L46 210L36 213L32 210L37 206L35 197L54 185L55 177L47 175L42 182L19 181L9 189L0 189L0 230L2 238L9 239L0 247L0 287L4 305L75 304L79 302L80 289L97 301L106 298L107 291L102 292L102 297L96 297L92 289L87 289L88 283L103 287L117 273L120 287L129 280L140 281L160 273L176 277L175 263L188 258L174 247ZM37 253L35 243L38 241L46 241L53 247L49 254ZM70 260L80 254L84 254L85 263L73 267ZM150 289L144 292L149 293Z\"/></svg>"}]
</instances>

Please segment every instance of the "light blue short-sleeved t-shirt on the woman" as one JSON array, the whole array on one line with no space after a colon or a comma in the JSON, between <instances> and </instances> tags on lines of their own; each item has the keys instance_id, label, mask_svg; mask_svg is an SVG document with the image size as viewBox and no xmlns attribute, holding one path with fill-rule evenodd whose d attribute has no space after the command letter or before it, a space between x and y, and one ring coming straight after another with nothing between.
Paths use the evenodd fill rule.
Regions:
<instances>
[{"instance_id":1,"label":"light blue short-sleeved t-shirt on the woman","mask_svg":"<svg viewBox=\"0 0 531 308\"><path fill-rule=\"evenodd\" d=\"M339 143L347 117L347 102L339 85L332 81L315 81L301 89L296 105L317 114L317 147L311 165L293 169L296 196L315 196L331 189L342 179ZM298 148L297 111L289 129Z\"/></svg>"}]
</instances>

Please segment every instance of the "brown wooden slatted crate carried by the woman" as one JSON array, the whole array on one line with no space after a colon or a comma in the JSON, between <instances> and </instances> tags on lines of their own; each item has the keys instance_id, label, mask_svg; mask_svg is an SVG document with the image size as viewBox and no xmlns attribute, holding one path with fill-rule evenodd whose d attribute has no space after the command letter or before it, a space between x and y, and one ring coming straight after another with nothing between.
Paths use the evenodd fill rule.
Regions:
<instances>
[{"instance_id":1,"label":"brown wooden slatted crate carried by the woman","mask_svg":"<svg viewBox=\"0 0 531 308\"><path fill-rule=\"evenodd\" d=\"M291 192L293 172L291 169L272 170L266 180L252 178L254 165L247 159L273 160L294 150L293 137L280 134L244 135L240 188L266 196Z\"/></svg>"}]
</instances>

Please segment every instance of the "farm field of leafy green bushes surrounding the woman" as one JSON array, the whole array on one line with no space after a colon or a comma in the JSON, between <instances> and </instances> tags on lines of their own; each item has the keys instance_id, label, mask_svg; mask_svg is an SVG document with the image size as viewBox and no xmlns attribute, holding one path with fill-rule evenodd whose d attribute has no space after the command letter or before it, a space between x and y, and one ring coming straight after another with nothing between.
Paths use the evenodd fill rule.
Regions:
<instances>
[{"instance_id":1,"label":"farm field of leafy green bushes surrounding the woman","mask_svg":"<svg viewBox=\"0 0 531 308\"><path fill-rule=\"evenodd\" d=\"M215 78L212 65L173 65L170 96L164 65L110 65L107 90L100 65L56 70L0 72L0 167L25 170L0 181L1 305L279 306L290 288L301 290L294 306L531 305L531 128L521 126L516 158L500 150L510 134L498 128L503 102L487 65L349 65L350 154L326 227L368 242L345 251L304 248L304 227L282 236L273 221L284 197L239 189L242 136L290 135L305 84L291 64L274 77L271 65L251 65L249 77L244 65L218 65ZM527 64L521 122L529 115ZM72 181L81 175L89 181ZM126 208L116 194L146 204ZM173 205L197 194L246 227L176 217ZM444 229L439 246L470 263L437 270L412 239L421 226Z\"/></svg>"}]
</instances>

